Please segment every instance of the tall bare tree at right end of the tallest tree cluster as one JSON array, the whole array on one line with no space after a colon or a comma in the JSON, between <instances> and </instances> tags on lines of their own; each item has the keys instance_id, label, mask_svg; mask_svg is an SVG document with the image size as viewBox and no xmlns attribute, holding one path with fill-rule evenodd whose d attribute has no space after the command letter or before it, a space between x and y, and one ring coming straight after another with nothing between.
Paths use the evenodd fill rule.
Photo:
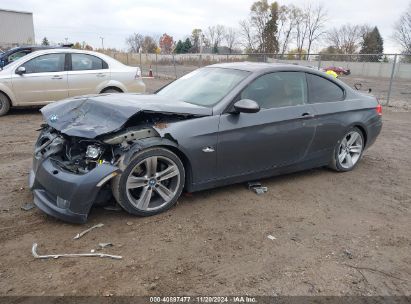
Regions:
<instances>
[{"instance_id":1,"label":"tall bare tree at right end of the tallest tree cluster","mask_svg":"<svg viewBox=\"0 0 411 304\"><path fill-rule=\"evenodd\" d=\"M307 53L310 54L313 42L325 34L323 29L327 18L327 13L324 7L320 4L314 8L311 5L308 5L306 12L308 41Z\"/></svg>"}]
</instances>

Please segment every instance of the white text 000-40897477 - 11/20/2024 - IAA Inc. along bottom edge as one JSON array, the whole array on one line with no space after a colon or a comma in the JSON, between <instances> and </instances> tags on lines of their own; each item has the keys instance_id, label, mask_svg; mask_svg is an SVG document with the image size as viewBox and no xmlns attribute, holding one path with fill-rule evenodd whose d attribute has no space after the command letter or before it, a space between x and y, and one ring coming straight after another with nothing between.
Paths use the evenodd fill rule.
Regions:
<instances>
[{"instance_id":1,"label":"white text 000-40897477 - 11/20/2024 - IAA Inc. along bottom edge","mask_svg":"<svg viewBox=\"0 0 411 304\"><path fill-rule=\"evenodd\" d=\"M150 297L150 303L257 303L255 297Z\"/></svg>"}]
</instances>

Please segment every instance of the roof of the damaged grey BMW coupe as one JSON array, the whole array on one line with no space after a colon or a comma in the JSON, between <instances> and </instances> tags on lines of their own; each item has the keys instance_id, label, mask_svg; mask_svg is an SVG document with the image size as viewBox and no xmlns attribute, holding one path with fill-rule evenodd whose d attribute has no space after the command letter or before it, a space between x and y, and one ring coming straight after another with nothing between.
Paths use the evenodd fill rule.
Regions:
<instances>
[{"instance_id":1,"label":"roof of the damaged grey BMW coupe","mask_svg":"<svg viewBox=\"0 0 411 304\"><path fill-rule=\"evenodd\" d=\"M235 70L243 70L248 72L259 72L265 70L288 70L288 71L312 71L312 68L308 68L305 66L297 65L297 64L288 64L288 63L267 63L267 62L250 62L250 61L242 61L242 62L229 62L229 63L217 63L213 65L209 65L208 67L216 67L216 68L225 68L225 69L235 69Z\"/></svg>"}]
</instances>

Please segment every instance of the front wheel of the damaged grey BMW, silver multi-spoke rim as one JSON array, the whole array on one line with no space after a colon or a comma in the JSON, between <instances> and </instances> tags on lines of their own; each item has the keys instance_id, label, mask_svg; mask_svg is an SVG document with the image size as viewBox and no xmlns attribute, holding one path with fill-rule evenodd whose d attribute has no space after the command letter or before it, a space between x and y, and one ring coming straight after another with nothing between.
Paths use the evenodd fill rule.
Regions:
<instances>
[{"instance_id":1,"label":"front wheel of the damaged grey BMW, silver multi-spoke rim","mask_svg":"<svg viewBox=\"0 0 411 304\"><path fill-rule=\"evenodd\" d=\"M185 170L179 157L156 147L137 153L111 186L113 196L125 211L150 216L174 206L184 183Z\"/></svg>"}]
</instances>

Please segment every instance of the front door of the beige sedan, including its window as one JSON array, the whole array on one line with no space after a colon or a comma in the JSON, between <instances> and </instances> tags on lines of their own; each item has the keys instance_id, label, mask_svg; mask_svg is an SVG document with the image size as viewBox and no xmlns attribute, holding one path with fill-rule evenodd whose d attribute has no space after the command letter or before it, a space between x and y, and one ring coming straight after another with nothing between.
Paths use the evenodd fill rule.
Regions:
<instances>
[{"instance_id":1,"label":"front door of the beige sedan, including its window","mask_svg":"<svg viewBox=\"0 0 411 304\"><path fill-rule=\"evenodd\" d=\"M12 74L13 91L19 103L46 103L68 96L65 53L34 57L19 65ZM17 74L20 67L25 72Z\"/></svg>"}]
</instances>

